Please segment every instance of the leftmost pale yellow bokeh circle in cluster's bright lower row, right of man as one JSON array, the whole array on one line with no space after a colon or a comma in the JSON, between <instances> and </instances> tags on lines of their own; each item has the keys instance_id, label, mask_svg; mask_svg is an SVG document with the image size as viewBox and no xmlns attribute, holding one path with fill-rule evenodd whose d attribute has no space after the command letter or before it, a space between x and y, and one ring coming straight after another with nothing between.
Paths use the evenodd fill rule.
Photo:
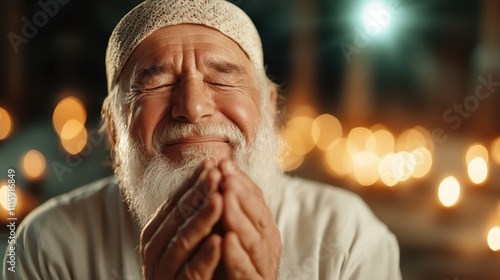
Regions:
<instances>
[{"instance_id":1,"label":"leftmost pale yellow bokeh circle in cluster's bright lower row, right of man","mask_svg":"<svg viewBox=\"0 0 500 280\"><path fill-rule=\"evenodd\" d=\"M353 175L362 186L375 184L379 178L379 157L373 152L359 152L352 159Z\"/></svg>"}]
</instances>

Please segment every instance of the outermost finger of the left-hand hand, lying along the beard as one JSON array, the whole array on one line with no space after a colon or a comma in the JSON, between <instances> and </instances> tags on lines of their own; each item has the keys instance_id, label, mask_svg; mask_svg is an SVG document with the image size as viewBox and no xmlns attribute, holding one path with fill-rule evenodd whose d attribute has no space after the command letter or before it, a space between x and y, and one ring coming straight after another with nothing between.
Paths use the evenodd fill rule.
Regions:
<instances>
[{"instance_id":1,"label":"outermost finger of the left-hand hand, lying along the beard","mask_svg":"<svg viewBox=\"0 0 500 280\"><path fill-rule=\"evenodd\" d=\"M155 233L158 226L165 220L166 216L172 211L175 206L175 202L179 199L179 196L186 192L186 189L193 186L196 181L202 177L202 173L206 173L214 166L211 161L203 161L200 166L195 170L193 175L179 188L179 190L171 198L167 198L165 202L158 207L153 218L146 224L144 230L142 231L141 239L149 240L151 236ZM177 199L176 199L177 198Z\"/></svg>"}]
</instances>

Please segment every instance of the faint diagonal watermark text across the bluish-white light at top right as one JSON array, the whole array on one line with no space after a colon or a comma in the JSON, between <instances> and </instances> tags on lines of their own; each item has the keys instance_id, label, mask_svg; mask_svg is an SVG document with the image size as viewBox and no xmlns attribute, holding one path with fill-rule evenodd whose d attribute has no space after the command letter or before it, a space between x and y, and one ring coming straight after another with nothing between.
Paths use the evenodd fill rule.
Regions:
<instances>
[{"instance_id":1,"label":"faint diagonal watermark text across the bluish-white light at top right","mask_svg":"<svg viewBox=\"0 0 500 280\"><path fill-rule=\"evenodd\" d=\"M354 27L352 43L343 41L339 44L348 63L351 63L351 56L353 54L361 53L361 50L366 48L373 38L380 35L389 26L393 16L403 11L400 0L391 0L387 5L383 6L381 3L376 3L376 5L365 12L363 16L363 28L359 26Z\"/></svg>"}]
</instances>

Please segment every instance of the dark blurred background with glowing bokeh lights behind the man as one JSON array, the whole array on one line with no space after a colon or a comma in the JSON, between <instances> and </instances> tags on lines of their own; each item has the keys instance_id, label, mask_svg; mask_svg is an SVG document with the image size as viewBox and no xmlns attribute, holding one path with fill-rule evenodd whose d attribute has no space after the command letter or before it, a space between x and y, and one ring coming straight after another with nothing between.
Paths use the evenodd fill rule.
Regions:
<instances>
[{"instance_id":1,"label":"dark blurred background with glowing bokeh lights behind the man","mask_svg":"<svg viewBox=\"0 0 500 280\"><path fill-rule=\"evenodd\" d=\"M112 174L104 54L139 2L0 2L2 252L9 179L19 222ZM360 194L404 279L500 279L500 1L232 2L286 97L287 171Z\"/></svg>"}]
</instances>

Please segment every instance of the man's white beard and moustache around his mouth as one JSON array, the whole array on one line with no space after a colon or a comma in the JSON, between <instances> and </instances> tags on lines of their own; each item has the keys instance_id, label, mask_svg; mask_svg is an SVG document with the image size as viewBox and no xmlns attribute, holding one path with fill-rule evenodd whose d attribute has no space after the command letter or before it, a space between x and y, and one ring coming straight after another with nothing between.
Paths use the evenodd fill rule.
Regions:
<instances>
[{"instance_id":1,"label":"man's white beard and moustache around his mouth","mask_svg":"<svg viewBox=\"0 0 500 280\"><path fill-rule=\"evenodd\" d=\"M157 208L177 191L182 183L205 159L216 159L213 147L184 149L182 162L174 163L161 153L161 143L189 135L224 135L229 138L232 160L245 172L264 194L269 208L276 213L282 197L282 169L279 152L284 142L276 133L270 117L264 117L253 145L236 125L177 123L155 131L154 155L145 156L141 143L122 130L116 147L116 178L130 210L143 228Z\"/></svg>"}]
</instances>

